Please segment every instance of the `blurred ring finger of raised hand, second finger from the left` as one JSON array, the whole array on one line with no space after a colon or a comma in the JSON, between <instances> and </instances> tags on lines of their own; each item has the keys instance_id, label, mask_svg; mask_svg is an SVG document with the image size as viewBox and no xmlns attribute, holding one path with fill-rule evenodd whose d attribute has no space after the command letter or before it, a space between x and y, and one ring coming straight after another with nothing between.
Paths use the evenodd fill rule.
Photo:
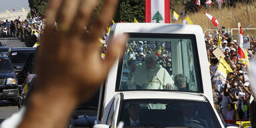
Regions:
<instances>
[{"instance_id":1,"label":"blurred ring finger of raised hand, second finger from the left","mask_svg":"<svg viewBox=\"0 0 256 128\"><path fill-rule=\"evenodd\" d=\"M59 31L67 32L75 17L80 0L63 0L57 15Z\"/></svg>"}]
</instances>

